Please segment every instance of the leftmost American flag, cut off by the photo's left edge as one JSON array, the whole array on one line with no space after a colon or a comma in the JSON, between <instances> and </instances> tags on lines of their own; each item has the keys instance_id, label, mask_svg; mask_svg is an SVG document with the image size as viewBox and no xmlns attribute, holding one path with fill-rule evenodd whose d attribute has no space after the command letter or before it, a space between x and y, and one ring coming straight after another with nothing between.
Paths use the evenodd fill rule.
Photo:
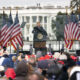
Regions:
<instances>
[{"instance_id":1,"label":"leftmost American flag, cut off by the photo's left edge","mask_svg":"<svg viewBox=\"0 0 80 80\"><path fill-rule=\"evenodd\" d=\"M5 32L7 30L7 24L6 24L6 18L5 18L5 13L3 11L3 22L2 22L2 29L0 30L0 46L3 46L4 43L4 36L5 36Z\"/></svg>"}]
</instances>

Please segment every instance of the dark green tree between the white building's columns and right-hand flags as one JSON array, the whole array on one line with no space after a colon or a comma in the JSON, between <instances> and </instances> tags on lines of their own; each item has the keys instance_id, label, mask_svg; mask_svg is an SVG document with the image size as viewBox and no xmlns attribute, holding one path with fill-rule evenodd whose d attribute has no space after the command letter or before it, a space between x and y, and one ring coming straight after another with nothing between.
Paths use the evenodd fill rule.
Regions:
<instances>
[{"instance_id":1,"label":"dark green tree between the white building's columns and right-hand flags","mask_svg":"<svg viewBox=\"0 0 80 80\"><path fill-rule=\"evenodd\" d=\"M59 12L56 19L52 20L52 30L57 40L64 40L65 13Z\"/></svg>"}]
</instances>

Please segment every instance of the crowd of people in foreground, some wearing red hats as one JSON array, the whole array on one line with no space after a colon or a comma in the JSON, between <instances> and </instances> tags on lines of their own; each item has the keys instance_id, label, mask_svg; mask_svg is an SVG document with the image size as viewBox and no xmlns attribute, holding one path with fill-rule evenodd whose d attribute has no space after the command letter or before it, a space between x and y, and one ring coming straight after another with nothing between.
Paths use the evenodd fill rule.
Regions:
<instances>
[{"instance_id":1,"label":"crowd of people in foreground, some wearing red hats","mask_svg":"<svg viewBox=\"0 0 80 80\"><path fill-rule=\"evenodd\" d=\"M0 77L5 80L80 80L79 56L63 53L42 55L4 54Z\"/></svg>"}]
</instances>

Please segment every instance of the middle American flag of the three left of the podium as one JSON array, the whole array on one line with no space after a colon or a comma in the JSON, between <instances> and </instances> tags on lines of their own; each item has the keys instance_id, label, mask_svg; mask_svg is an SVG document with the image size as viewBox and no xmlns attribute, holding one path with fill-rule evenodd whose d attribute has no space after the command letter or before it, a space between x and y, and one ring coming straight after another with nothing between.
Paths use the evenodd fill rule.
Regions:
<instances>
[{"instance_id":1,"label":"middle American flag of the three left of the podium","mask_svg":"<svg viewBox=\"0 0 80 80\"><path fill-rule=\"evenodd\" d=\"M11 32L12 32L13 26L14 26L11 11L10 11L10 15L9 15L7 26L8 26L8 28L7 28L6 32L5 32L4 43L3 43L3 46L6 46L6 47L7 47L7 44L9 42L11 42Z\"/></svg>"}]
</instances>

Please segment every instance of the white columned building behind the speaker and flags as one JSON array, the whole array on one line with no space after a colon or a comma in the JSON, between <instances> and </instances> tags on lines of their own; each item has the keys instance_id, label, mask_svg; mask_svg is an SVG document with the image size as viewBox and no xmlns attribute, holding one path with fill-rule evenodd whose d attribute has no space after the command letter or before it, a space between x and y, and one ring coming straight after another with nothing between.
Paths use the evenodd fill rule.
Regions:
<instances>
[{"instance_id":1,"label":"white columned building behind the speaker and flags","mask_svg":"<svg viewBox=\"0 0 80 80\"><path fill-rule=\"evenodd\" d=\"M2 13L3 10L0 10L0 13ZM66 9L65 7L61 6L43 6L43 7L18 7L18 14L19 14L19 21L20 24L24 21L26 22L25 27L23 28L23 36L24 40L33 41L33 34L32 30L33 27L36 26L36 22L40 21L43 28L47 31L49 39L54 40L56 39L56 36L52 32L51 28L51 21L53 18L56 17L58 12L65 13ZM9 7L5 8L5 13L9 15L10 10ZM12 16L13 19L16 15L16 9L15 7L12 8Z\"/></svg>"}]
</instances>

